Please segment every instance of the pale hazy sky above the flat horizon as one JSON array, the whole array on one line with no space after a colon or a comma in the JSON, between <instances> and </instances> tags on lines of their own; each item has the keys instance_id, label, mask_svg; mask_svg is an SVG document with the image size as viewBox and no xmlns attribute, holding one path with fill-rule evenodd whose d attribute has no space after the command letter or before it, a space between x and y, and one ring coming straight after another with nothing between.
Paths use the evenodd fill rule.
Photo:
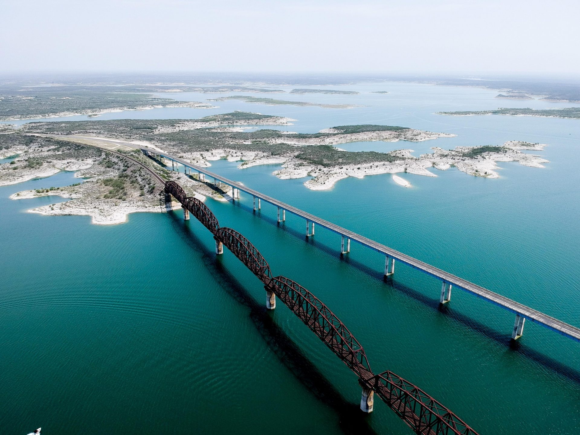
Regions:
<instances>
[{"instance_id":1,"label":"pale hazy sky above the flat horizon","mask_svg":"<svg viewBox=\"0 0 580 435\"><path fill-rule=\"evenodd\" d=\"M580 1L0 0L0 71L580 74Z\"/></svg>"}]
</instances>

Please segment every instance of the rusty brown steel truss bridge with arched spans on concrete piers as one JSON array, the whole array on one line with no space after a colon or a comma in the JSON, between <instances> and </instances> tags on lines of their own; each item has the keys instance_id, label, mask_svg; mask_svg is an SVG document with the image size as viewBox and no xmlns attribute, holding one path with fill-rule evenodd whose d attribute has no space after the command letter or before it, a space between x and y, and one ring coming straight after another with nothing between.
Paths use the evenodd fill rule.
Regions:
<instances>
[{"instance_id":1,"label":"rusty brown steel truss bridge with arched spans on concrete piers","mask_svg":"<svg viewBox=\"0 0 580 435\"><path fill-rule=\"evenodd\" d=\"M324 303L298 282L283 276L273 277L270 266L258 249L242 234L220 227L218 219L200 200L188 197L179 184L165 182L162 196L169 195L182 204L186 219L193 214L216 241L216 253L226 246L266 289L266 306L276 306L276 296L358 377L362 387L361 409L371 412L374 394L387 404L414 433L424 435L477 435L463 420L425 391L393 372L374 374L364 349L349 329Z\"/></svg>"}]
</instances>

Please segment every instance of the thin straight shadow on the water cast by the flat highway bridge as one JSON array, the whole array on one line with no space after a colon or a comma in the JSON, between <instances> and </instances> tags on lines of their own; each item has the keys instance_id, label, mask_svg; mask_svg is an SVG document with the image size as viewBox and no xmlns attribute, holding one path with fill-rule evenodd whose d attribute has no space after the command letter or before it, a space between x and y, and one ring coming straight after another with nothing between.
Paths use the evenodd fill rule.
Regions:
<instances>
[{"instance_id":1,"label":"thin straight shadow on the water cast by the flat highway bridge","mask_svg":"<svg viewBox=\"0 0 580 435\"><path fill-rule=\"evenodd\" d=\"M307 244L316 246L316 248L320 249L322 252L327 253L329 256L333 258L339 259L340 261L349 264L349 266L354 267L354 269L357 269L364 274L367 274L367 276L376 278L376 280L379 281L383 281L382 264L378 266L380 267L380 270L378 270L378 268L374 269L372 267L369 267L367 264L351 259L347 254L341 255L338 249L333 249L323 242L317 242L316 236L306 237L304 232L296 230L295 227L289 225L287 226L285 222L278 222L276 218L271 218L270 215L262 213L260 210L254 211L251 206L244 205L239 201L230 201L230 202L233 202L234 206L238 206L242 209L245 209L249 213L253 213L256 216L259 216L266 222L271 223L274 226L278 226L280 229L286 231L288 234L298 238L298 240L304 240L306 241ZM354 246L360 245L354 244ZM521 356L528 358L529 360L534 361L537 364L542 365L542 367L549 369L550 371L560 376L570 379L573 382L580 383L580 371L578 369L569 367L568 365L563 364L563 362L560 362L546 354L543 354L537 350L525 346L525 343L521 342L521 339L514 341L511 339L510 334L496 331L495 329L490 328L487 325L478 322L477 320L474 320L469 316L466 316L465 314L462 314L460 311L452 309L452 307L449 306L449 304L441 305L438 299L430 298L429 296L425 295L425 293L422 293L412 287L408 287L407 285L398 282L396 279L389 278L388 280L385 281L384 285L386 288L394 289L398 292L404 293L405 295L416 300L417 302L422 303L426 307L429 307L433 310L438 310L441 314L450 318L451 320L458 322L459 324L462 324L463 326L468 327L473 331L476 331L477 333L480 333L481 335L485 336L488 339L494 340L496 343L499 343L500 345L509 346L509 349L511 349L512 351L517 352ZM438 296L437 287L434 287L434 293L437 294ZM507 325L507 330L510 330L511 329L510 327L511 325Z\"/></svg>"}]
</instances>

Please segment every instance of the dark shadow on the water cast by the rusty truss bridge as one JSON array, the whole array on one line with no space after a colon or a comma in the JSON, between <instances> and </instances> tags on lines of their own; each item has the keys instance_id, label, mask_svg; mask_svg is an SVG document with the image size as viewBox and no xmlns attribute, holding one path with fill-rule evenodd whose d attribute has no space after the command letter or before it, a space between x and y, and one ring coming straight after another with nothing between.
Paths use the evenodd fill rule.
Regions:
<instances>
[{"instance_id":1,"label":"dark shadow on the water cast by the rusty truss bridge","mask_svg":"<svg viewBox=\"0 0 580 435\"><path fill-rule=\"evenodd\" d=\"M167 213L177 233L195 251L202 253L204 266L219 277L220 286L238 303L249 310L249 318L262 335L269 349L276 354L280 362L306 387L318 400L331 407L339 417L339 427L345 434L376 434L369 425L369 415L360 411L358 404L351 403L342 396L331 382L320 372L295 342L284 332L273 319L271 311L257 302L255 295L245 289L240 281L223 266L221 257L208 249L205 244L190 230L189 224L175 213ZM261 284L256 284L257 293L264 296L266 291ZM296 320L299 321L299 320ZM337 361L337 364L339 362ZM353 382L356 382L353 378Z\"/></svg>"}]
</instances>

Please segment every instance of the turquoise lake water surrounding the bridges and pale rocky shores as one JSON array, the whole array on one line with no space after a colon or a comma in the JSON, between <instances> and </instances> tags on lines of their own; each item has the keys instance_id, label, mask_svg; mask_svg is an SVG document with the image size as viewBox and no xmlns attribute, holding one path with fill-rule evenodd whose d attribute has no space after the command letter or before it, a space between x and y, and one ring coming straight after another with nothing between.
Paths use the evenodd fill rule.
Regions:
<instances>
[{"instance_id":1,"label":"turquoise lake water surrounding the bridges and pale rocky shores","mask_svg":"<svg viewBox=\"0 0 580 435\"><path fill-rule=\"evenodd\" d=\"M314 86L316 87L316 86ZM361 95L266 95L364 107L265 106L216 102L216 109L164 108L113 118L198 118L232 110L296 119L281 129L316 132L345 124L389 124L456 137L421 143L367 142L349 150L546 143L550 163L499 163L499 179L456 169L437 177L403 174L341 180L311 191L280 180L278 166L212 171L321 218L580 325L580 121L535 117L450 117L445 110L570 107L499 100L493 90L419 84L332 89ZM389 90L376 95L371 90ZM160 94L166 96L166 94ZM255 95L255 94L249 94ZM215 95L223 96L223 95ZM262 95L258 95L262 96ZM204 101L208 94L171 97ZM61 120L74 120L67 117ZM58 118L53 118L58 119ZM212 236L181 213L137 213L115 226L86 216L26 211L59 197L10 194L77 182L71 172L0 187L0 433L46 435L161 433L408 434L375 400L358 410L356 376L282 304L265 309L262 285L234 256L216 257ZM575 434L580 430L579 343L527 322L510 346L513 315L455 289L438 307L440 284L396 266L276 208L252 212L207 200L220 224L240 231L269 261L324 301L364 346L375 372L390 369L431 394L480 434Z\"/></svg>"}]
</instances>

